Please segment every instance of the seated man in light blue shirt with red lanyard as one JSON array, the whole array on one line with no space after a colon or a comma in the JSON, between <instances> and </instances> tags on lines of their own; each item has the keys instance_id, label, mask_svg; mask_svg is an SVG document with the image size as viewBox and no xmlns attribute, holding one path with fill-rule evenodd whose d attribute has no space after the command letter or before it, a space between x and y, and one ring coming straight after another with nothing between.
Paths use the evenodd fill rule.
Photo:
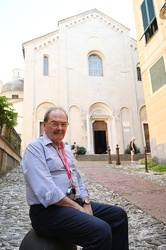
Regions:
<instances>
[{"instance_id":1,"label":"seated man in light blue shirt with red lanyard","mask_svg":"<svg viewBox=\"0 0 166 250\"><path fill-rule=\"evenodd\" d=\"M48 109L43 127L45 134L27 146L21 162L34 230L84 250L128 250L126 212L90 202L73 153L62 142L68 127L65 110Z\"/></svg>"}]
</instances>

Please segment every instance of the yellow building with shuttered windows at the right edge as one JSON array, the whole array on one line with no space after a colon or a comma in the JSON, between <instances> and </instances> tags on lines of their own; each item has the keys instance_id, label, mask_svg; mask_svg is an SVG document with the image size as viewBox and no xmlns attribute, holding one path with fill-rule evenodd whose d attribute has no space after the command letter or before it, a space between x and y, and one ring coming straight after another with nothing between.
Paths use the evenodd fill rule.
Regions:
<instances>
[{"instance_id":1,"label":"yellow building with shuttered windows at the right edge","mask_svg":"<svg viewBox=\"0 0 166 250\"><path fill-rule=\"evenodd\" d=\"M153 160L166 163L166 2L133 0Z\"/></svg>"}]
</instances>

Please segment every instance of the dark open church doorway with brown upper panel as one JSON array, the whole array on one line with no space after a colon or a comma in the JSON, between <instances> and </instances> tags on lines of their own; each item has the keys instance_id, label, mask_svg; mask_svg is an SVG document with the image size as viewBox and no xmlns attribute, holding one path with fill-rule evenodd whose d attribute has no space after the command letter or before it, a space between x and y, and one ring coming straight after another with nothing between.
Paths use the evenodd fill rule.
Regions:
<instances>
[{"instance_id":1,"label":"dark open church doorway with brown upper panel","mask_svg":"<svg viewBox=\"0 0 166 250\"><path fill-rule=\"evenodd\" d=\"M104 121L93 123L94 152L95 154L106 154L107 151L107 124Z\"/></svg>"}]
</instances>

